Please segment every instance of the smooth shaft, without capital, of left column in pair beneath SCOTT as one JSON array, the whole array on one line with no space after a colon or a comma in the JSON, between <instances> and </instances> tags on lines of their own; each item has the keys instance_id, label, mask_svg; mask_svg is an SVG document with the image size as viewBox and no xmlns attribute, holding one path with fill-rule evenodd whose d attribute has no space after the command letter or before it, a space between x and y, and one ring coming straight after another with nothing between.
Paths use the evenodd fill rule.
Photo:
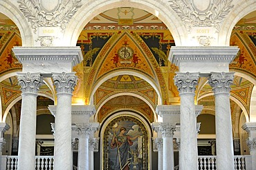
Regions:
<instances>
[{"instance_id":1,"label":"smooth shaft, without capital, of left column in pair beneath SCOTT","mask_svg":"<svg viewBox=\"0 0 256 170\"><path fill-rule=\"evenodd\" d=\"M181 96L181 149L180 170L197 170L197 136L194 93Z\"/></svg>"}]
</instances>

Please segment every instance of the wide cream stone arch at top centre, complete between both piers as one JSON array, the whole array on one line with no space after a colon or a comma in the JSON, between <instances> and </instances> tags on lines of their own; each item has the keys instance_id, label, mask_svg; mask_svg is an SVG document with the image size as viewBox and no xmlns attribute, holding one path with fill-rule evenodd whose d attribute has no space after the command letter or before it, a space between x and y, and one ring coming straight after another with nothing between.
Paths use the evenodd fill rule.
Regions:
<instances>
[{"instance_id":1,"label":"wide cream stone arch at top centre, complete between both piers","mask_svg":"<svg viewBox=\"0 0 256 170\"><path fill-rule=\"evenodd\" d=\"M65 45L75 45L80 32L82 32L82 29L84 28L84 25L89 23L93 17L100 14L100 12L110 10L111 8L124 6L139 8L156 15L158 19L165 23L170 32L172 32L176 45L182 45L182 43L185 43L185 39L188 37L188 32L185 29L184 23L181 22L179 17L176 17L176 13L168 4L161 3L161 1L156 0L88 1L87 3L84 3L84 5L76 12L75 17L73 17L66 26L66 30L64 32L65 41L63 42L66 43Z\"/></svg>"}]
</instances>

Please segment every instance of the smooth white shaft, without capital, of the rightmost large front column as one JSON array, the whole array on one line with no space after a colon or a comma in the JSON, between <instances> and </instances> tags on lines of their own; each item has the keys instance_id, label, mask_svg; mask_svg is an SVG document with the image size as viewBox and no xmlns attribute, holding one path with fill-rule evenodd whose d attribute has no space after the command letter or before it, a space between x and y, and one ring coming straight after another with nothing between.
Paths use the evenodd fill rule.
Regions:
<instances>
[{"instance_id":1,"label":"smooth white shaft, without capital, of the rightmost large front column","mask_svg":"<svg viewBox=\"0 0 256 170\"><path fill-rule=\"evenodd\" d=\"M229 95L220 93L214 96L217 169L233 170L235 166Z\"/></svg>"}]
</instances>

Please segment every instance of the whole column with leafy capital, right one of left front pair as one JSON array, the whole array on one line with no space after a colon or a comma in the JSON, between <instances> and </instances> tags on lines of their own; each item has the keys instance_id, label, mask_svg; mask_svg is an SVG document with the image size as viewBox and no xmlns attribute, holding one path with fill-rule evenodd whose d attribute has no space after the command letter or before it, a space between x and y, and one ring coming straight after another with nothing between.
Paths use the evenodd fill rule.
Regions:
<instances>
[{"instance_id":1,"label":"whole column with leafy capital, right one of left front pair","mask_svg":"<svg viewBox=\"0 0 256 170\"><path fill-rule=\"evenodd\" d=\"M54 169L73 169L71 149L71 98L77 83L75 72L53 73L53 82L57 91L55 114Z\"/></svg>"}]
</instances>

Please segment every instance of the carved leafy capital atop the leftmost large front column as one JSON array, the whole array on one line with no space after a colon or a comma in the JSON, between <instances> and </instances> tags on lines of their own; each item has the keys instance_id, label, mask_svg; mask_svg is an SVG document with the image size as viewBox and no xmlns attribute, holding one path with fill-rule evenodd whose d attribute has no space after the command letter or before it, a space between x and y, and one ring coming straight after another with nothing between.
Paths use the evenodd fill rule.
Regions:
<instances>
[{"instance_id":1,"label":"carved leafy capital atop the leftmost large front column","mask_svg":"<svg viewBox=\"0 0 256 170\"><path fill-rule=\"evenodd\" d=\"M40 86L43 83L43 77L39 73L17 73L19 85L21 86L21 92L37 94Z\"/></svg>"}]
</instances>

